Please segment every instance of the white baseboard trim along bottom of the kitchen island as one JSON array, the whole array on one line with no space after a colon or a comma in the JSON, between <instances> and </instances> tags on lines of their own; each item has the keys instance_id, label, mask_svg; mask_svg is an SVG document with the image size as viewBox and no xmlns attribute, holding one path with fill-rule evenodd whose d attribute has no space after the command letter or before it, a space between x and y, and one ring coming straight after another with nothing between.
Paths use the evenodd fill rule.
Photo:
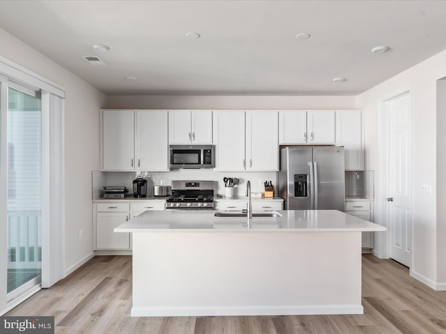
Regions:
<instances>
[{"instance_id":1,"label":"white baseboard trim along bottom of the kitchen island","mask_svg":"<svg viewBox=\"0 0 446 334\"><path fill-rule=\"evenodd\" d=\"M291 305L252 307L133 307L132 317L205 317L253 315L363 315L362 305Z\"/></svg>"}]
</instances>

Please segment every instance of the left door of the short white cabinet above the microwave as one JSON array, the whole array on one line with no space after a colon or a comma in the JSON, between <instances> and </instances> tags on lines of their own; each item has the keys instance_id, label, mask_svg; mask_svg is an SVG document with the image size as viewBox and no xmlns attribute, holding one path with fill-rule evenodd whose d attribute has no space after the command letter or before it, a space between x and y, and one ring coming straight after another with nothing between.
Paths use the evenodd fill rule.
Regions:
<instances>
[{"instance_id":1,"label":"left door of the short white cabinet above the microwave","mask_svg":"<svg viewBox=\"0 0 446 334\"><path fill-rule=\"evenodd\" d=\"M169 110L169 143L189 144L192 142L190 110Z\"/></svg>"}]
</instances>

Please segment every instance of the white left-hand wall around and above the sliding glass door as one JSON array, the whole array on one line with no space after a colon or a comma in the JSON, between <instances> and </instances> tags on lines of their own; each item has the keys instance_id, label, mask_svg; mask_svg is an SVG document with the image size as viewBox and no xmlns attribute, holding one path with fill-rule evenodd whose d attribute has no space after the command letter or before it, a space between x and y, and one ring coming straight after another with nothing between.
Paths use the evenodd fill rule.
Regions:
<instances>
[{"instance_id":1,"label":"white left-hand wall around and above the sliding glass door","mask_svg":"<svg viewBox=\"0 0 446 334\"><path fill-rule=\"evenodd\" d=\"M92 255L91 171L99 169L99 109L105 95L40 52L0 29L0 55L63 86L65 100L65 269ZM83 237L79 240L79 230Z\"/></svg>"}]
</instances>

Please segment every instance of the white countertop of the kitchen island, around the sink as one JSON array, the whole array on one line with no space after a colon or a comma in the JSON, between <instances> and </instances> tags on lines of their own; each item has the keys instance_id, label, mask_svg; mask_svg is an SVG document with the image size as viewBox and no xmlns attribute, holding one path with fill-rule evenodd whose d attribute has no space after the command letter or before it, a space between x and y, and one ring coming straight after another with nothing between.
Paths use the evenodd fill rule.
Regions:
<instances>
[{"instance_id":1,"label":"white countertop of the kitchen island, around the sink","mask_svg":"<svg viewBox=\"0 0 446 334\"><path fill-rule=\"evenodd\" d=\"M115 232L371 232L386 228L337 210L281 210L276 217L219 217L214 210L146 211ZM254 212L255 214L256 212ZM265 213L265 212L262 212ZM270 212L271 213L271 212Z\"/></svg>"}]
</instances>

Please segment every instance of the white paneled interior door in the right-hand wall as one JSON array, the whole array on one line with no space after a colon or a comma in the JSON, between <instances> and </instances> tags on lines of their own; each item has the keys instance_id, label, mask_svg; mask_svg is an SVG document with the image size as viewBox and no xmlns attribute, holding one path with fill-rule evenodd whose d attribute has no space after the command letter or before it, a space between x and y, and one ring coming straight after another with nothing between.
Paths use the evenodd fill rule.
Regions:
<instances>
[{"instance_id":1,"label":"white paneled interior door in the right-hand wall","mask_svg":"<svg viewBox=\"0 0 446 334\"><path fill-rule=\"evenodd\" d=\"M387 227L389 257L410 267L411 246L411 141L410 94L387 103Z\"/></svg>"}]
</instances>

